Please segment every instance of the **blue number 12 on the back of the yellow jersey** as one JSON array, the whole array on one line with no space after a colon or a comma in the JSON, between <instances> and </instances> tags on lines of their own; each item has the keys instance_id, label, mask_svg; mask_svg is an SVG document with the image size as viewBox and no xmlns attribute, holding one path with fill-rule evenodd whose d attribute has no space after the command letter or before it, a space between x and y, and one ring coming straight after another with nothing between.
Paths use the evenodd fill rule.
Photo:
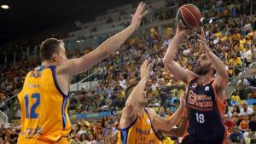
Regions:
<instances>
[{"instance_id":1,"label":"blue number 12 on the back of the yellow jersey","mask_svg":"<svg viewBox=\"0 0 256 144\"><path fill-rule=\"evenodd\" d=\"M26 106L26 118L38 118L38 113L36 113L36 108L40 104L40 95L38 93L32 94L31 99L28 98L28 95L24 96L25 99L25 106ZM29 100L35 99L36 102L32 105L32 107L29 107Z\"/></svg>"}]
</instances>

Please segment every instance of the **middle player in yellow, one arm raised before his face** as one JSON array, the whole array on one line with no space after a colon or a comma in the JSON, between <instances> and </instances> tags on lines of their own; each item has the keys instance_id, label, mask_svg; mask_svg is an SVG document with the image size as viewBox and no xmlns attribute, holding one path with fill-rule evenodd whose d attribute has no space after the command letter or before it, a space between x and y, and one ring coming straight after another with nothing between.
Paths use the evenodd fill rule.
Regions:
<instances>
[{"instance_id":1,"label":"middle player in yellow, one arm raised before his face","mask_svg":"<svg viewBox=\"0 0 256 144\"><path fill-rule=\"evenodd\" d=\"M187 120L185 118L183 120L183 132L172 131L172 127L183 118L183 110L185 109L183 96L180 98L180 107L170 118L161 118L153 109L146 107L148 97L144 89L149 78L149 67L148 60L145 60L140 69L140 82L132 84L125 90L125 96L129 95L129 97L117 126L119 144L159 144L163 138L161 130L167 131L166 135L180 133L179 136L186 130Z\"/></svg>"}]
</instances>

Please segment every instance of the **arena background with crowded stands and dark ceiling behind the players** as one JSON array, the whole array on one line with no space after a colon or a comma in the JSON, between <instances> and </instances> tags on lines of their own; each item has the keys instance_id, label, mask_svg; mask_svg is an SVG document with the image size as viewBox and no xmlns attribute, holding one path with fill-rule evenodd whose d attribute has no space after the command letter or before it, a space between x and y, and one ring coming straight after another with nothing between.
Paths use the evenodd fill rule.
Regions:
<instances>
[{"instance_id":1,"label":"arena background with crowded stands and dark ceiling behind the players","mask_svg":"<svg viewBox=\"0 0 256 144\"><path fill-rule=\"evenodd\" d=\"M38 28L33 29L33 26L31 31L35 32L22 34L27 27L21 30L23 28L19 28L19 23L9 23L12 23L11 19L15 19L20 20L24 26L26 19L4 16L19 12L15 10L19 8L22 8L20 13L27 14L25 6L15 5L22 5L22 2L13 5L11 2L0 2L9 4L2 5L0 9L0 16L3 16L0 23L7 21L0 24L0 144L17 143L21 129L21 111L17 94L22 89L26 73L41 65L39 46L44 39L61 39L65 43L68 59L79 58L96 49L108 37L129 26L131 14L140 3L137 0L119 3L106 1L104 3L114 4L104 6L101 1L90 1L91 7L97 7L98 4L98 7L103 9L89 9L88 3L88 6L79 6L77 9L89 9L84 10L87 14L84 18L72 19L69 22L66 20L66 23L59 22L52 27L50 24L44 27L44 22L38 24ZM53 2L58 4L54 6L51 6L50 2L45 3L38 3L37 7L42 7L41 9L30 10L53 11L55 7L61 7L62 3L67 5L67 2L61 1ZM79 1L68 3L70 7L79 5ZM229 131L229 143L256 143L256 1L147 0L144 3L148 14L144 16L137 31L118 51L87 72L73 77L69 90L68 115L72 123L72 131L67 135L69 143L117 143L119 132L116 125L125 107L125 89L140 80L140 66L146 59L152 65L150 78L146 84L148 107L153 108L163 118L169 118L176 112L179 107L179 96L185 93L185 84L166 70L163 58L176 32L177 9L185 3L193 3L201 10L200 26L205 28L207 44L223 61L229 74L229 84L225 89L227 108L223 116L223 123ZM6 8L7 6L9 8ZM33 6L30 4L27 7ZM55 13L61 11L56 10ZM63 15L59 19L66 19L65 14ZM69 18L71 16L67 16L67 19ZM38 22L40 20L37 19L49 20L51 23L50 18L46 18L45 15L38 15L34 19ZM183 39L175 56L179 65L191 71L194 70L197 57L201 55L201 48L195 35L200 33L200 26ZM49 104L49 107L55 106ZM166 136L162 143L179 144L181 139Z\"/></svg>"}]
</instances>

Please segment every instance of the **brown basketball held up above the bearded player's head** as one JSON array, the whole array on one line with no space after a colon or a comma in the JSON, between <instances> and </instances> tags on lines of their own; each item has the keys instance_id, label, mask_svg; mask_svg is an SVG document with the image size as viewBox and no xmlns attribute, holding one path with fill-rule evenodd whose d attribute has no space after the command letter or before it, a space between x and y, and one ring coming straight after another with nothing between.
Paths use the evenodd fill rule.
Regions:
<instances>
[{"instance_id":1,"label":"brown basketball held up above the bearded player's head","mask_svg":"<svg viewBox=\"0 0 256 144\"><path fill-rule=\"evenodd\" d=\"M184 4L177 10L178 25L183 28L195 28L201 23L201 12L193 4Z\"/></svg>"}]
</instances>

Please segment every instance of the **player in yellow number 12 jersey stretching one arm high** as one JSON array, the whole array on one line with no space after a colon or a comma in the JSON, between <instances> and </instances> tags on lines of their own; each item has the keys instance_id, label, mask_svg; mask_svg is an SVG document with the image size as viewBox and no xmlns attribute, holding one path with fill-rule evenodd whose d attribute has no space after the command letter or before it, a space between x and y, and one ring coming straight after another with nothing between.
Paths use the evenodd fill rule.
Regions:
<instances>
[{"instance_id":1,"label":"player in yellow number 12 jersey stretching one arm high","mask_svg":"<svg viewBox=\"0 0 256 144\"><path fill-rule=\"evenodd\" d=\"M78 59L67 60L64 43L46 39L40 46L42 66L28 72L18 99L21 107L19 144L66 144L72 130L68 117L68 89L73 75L85 72L113 54L136 31L145 3L140 3L131 25L108 38L97 49Z\"/></svg>"}]
</instances>

